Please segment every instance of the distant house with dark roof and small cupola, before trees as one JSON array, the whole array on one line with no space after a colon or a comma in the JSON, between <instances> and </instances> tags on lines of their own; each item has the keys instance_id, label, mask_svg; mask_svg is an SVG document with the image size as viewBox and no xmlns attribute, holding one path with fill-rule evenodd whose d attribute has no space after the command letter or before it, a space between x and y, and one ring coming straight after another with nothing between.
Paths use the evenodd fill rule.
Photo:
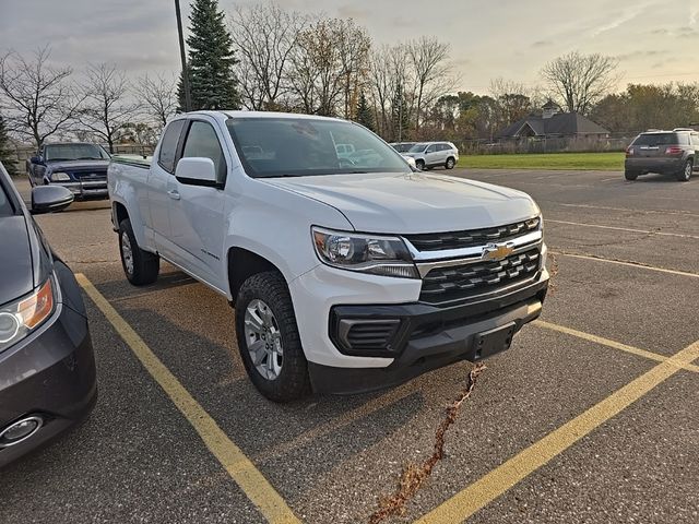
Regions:
<instances>
[{"instance_id":1,"label":"distant house with dark roof and small cupola, before trees","mask_svg":"<svg viewBox=\"0 0 699 524\"><path fill-rule=\"evenodd\" d=\"M577 112L561 112L560 107L548 100L542 108L542 115L531 115L502 130L498 134L501 141L530 138L591 138L606 139L609 130Z\"/></svg>"}]
</instances>

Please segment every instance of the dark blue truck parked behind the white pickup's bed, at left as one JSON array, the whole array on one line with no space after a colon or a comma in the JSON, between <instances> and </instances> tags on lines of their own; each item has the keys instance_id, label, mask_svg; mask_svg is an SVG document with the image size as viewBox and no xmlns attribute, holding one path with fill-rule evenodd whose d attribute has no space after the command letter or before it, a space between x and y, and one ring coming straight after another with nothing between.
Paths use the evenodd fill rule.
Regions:
<instances>
[{"instance_id":1,"label":"dark blue truck parked behind the white pickup's bed, at left","mask_svg":"<svg viewBox=\"0 0 699 524\"><path fill-rule=\"evenodd\" d=\"M62 186L75 200L99 200L109 198L108 165L109 153L98 144L46 144L27 160L27 174L32 187Z\"/></svg>"}]
</instances>

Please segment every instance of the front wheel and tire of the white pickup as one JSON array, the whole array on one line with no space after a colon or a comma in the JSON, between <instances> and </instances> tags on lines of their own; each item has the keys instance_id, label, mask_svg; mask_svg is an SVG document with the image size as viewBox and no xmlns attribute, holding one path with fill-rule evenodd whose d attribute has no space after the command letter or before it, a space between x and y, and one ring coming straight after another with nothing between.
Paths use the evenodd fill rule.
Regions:
<instances>
[{"instance_id":1,"label":"front wheel and tire of the white pickup","mask_svg":"<svg viewBox=\"0 0 699 524\"><path fill-rule=\"evenodd\" d=\"M248 377L265 397L291 402L310 393L292 297L280 273L245 281L236 300L236 336Z\"/></svg>"}]
</instances>

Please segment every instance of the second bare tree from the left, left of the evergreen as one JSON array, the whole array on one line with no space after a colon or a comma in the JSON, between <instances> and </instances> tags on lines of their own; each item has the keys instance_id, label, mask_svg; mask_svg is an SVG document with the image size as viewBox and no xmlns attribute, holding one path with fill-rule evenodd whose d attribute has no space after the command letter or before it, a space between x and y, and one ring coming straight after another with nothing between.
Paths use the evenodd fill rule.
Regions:
<instances>
[{"instance_id":1,"label":"second bare tree from the left, left of the evergreen","mask_svg":"<svg viewBox=\"0 0 699 524\"><path fill-rule=\"evenodd\" d=\"M116 66L91 64L83 85L85 102L78 112L78 120L109 145L114 143L139 109L128 100L129 83Z\"/></svg>"}]
</instances>

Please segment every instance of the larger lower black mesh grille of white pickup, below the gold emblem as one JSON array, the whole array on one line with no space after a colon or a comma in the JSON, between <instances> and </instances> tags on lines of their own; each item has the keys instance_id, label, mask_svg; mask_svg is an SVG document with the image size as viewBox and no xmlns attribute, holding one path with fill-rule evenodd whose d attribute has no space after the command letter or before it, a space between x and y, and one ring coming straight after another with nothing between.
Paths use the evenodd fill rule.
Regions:
<instances>
[{"instance_id":1,"label":"larger lower black mesh grille of white pickup, below the gold emblem","mask_svg":"<svg viewBox=\"0 0 699 524\"><path fill-rule=\"evenodd\" d=\"M420 301L441 303L465 300L524 283L536 275L538 248L500 261L435 267L423 279Z\"/></svg>"}]
</instances>

